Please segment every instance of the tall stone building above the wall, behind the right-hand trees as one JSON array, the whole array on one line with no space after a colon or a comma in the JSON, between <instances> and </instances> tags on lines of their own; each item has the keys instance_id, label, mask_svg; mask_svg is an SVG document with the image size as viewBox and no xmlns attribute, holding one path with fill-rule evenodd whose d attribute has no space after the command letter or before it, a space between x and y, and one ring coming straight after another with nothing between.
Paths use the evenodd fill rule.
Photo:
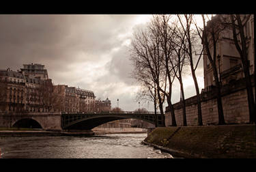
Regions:
<instances>
[{"instance_id":1,"label":"tall stone building above the wall, behind the right-hand trees","mask_svg":"<svg viewBox=\"0 0 256 172\"><path fill-rule=\"evenodd\" d=\"M218 18L225 17L225 15L218 14L209 23L214 23ZM227 17L227 16L226 16ZM225 28L218 34L218 41L216 42L216 68L218 72L218 79L222 85L226 85L231 81L236 81L244 77L242 71L242 62L240 54L236 50L236 45L233 41L233 33L230 27L220 26L221 23L214 27ZM206 26L207 27L207 26ZM254 73L254 60L255 60L255 48L254 48L254 15L251 15L248 22L244 27L244 33L246 35L246 44L248 46L248 61L250 74ZM209 38L210 39L210 38ZM213 55L213 46L210 44L210 52ZM204 50L203 53L203 76L204 76L204 90L210 90L214 83L214 74L212 66L208 59L208 55Z\"/></svg>"}]
</instances>

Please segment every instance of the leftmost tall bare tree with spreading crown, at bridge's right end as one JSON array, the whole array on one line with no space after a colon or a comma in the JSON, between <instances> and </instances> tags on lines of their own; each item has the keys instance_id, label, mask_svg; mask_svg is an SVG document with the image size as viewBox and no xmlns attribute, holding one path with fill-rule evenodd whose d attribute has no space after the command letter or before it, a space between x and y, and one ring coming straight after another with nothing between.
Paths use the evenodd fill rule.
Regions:
<instances>
[{"instance_id":1,"label":"leftmost tall bare tree with spreading crown, at bridge's right end","mask_svg":"<svg viewBox=\"0 0 256 172\"><path fill-rule=\"evenodd\" d=\"M163 72L162 52L160 52L160 40L149 27L145 30L134 32L132 40L131 60L134 65L134 75L148 78L148 84L154 87L156 84L156 94L158 97L158 106L164 123L163 103L165 95L160 89L166 89L167 77ZM138 77L137 77L138 78Z\"/></svg>"}]
</instances>

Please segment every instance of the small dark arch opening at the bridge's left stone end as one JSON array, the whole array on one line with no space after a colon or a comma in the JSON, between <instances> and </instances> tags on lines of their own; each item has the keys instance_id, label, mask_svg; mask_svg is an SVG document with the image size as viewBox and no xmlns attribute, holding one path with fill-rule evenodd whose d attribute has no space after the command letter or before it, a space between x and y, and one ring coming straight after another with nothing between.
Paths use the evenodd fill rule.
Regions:
<instances>
[{"instance_id":1,"label":"small dark arch opening at the bridge's left stone end","mask_svg":"<svg viewBox=\"0 0 256 172\"><path fill-rule=\"evenodd\" d=\"M31 118L23 118L16 121L13 125L13 128L42 128L42 125Z\"/></svg>"}]
</instances>

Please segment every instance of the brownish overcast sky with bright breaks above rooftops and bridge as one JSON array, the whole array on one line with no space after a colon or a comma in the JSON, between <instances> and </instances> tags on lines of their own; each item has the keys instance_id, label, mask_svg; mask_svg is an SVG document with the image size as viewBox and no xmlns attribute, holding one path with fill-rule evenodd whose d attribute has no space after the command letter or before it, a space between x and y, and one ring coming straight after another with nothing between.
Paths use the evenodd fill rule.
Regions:
<instances>
[{"instance_id":1,"label":"brownish overcast sky with bright breaks above rooftops and bridge","mask_svg":"<svg viewBox=\"0 0 256 172\"><path fill-rule=\"evenodd\" d=\"M54 85L65 84L94 91L96 99L109 98L112 107L138 108L139 85L130 78L128 47L132 31L152 15L0 15L0 69L19 70L23 64L42 63ZM186 98L195 96L190 72L184 78ZM203 88L203 68L197 70ZM173 87L173 103L180 85ZM152 104L141 102L153 111Z\"/></svg>"}]
</instances>

